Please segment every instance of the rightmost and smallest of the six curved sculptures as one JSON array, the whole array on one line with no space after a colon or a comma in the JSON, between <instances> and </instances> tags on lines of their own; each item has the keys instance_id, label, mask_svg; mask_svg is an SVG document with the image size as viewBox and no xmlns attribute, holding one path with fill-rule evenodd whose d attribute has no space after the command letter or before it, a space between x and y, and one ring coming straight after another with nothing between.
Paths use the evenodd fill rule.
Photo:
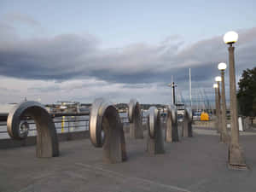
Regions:
<instances>
[{"instance_id":1,"label":"rightmost and smallest of the six curved sculptures","mask_svg":"<svg viewBox=\"0 0 256 192\"><path fill-rule=\"evenodd\" d=\"M183 137L192 137L192 110L185 108L183 119Z\"/></svg>"}]
</instances>

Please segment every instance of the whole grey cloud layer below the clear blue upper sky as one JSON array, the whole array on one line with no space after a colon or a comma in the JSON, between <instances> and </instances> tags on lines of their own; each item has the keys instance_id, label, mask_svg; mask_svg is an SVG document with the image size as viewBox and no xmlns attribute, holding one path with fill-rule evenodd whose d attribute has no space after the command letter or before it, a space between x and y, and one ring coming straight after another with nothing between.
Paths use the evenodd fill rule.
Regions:
<instances>
[{"instance_id":1,"label":"whole grey cloud layer below the clear blue upper sky","mask_svg":"<svg viewBox=\"0 0 256 192\"><path fill-rule=\"evenodd\" d=\"M21 15L9 17L40 26ZM256 66L256 28L238 32L236 67L241 73ZM194 44L174 35L159 44L102 49L101 39L90 34L20 38L15 27L5 21L0 23L0 102L15 102L25 96L43 102L92 102L105 96L113 102L136 97L144 103L165 103L170 102L166 84L172 75L184 95L188 94L189 67L195 88L208 89L218 75L218 62L227 59L223 34Z\"/></svg>"}]
</instances>

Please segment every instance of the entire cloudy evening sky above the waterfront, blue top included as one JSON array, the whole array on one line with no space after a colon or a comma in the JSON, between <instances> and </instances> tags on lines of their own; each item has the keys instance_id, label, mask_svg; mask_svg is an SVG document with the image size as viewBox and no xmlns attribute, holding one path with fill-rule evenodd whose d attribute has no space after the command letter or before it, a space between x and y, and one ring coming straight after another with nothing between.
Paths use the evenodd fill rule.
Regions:
<instances>
[{"instance_id":1,"label":"entire cloudy evening sky above the waterfront, blue top included","mask_svg":"<svg viewBox=\"0 0 256 192\"><path fill-rule=\"evenodd\" d=\"M255 9L253 0L1 0L0 103L169 103L172 76L187 100L189 68L193 99L212 99L225 32L239 33L237 78L256 66Z\"/></svg>"}]
</instances>

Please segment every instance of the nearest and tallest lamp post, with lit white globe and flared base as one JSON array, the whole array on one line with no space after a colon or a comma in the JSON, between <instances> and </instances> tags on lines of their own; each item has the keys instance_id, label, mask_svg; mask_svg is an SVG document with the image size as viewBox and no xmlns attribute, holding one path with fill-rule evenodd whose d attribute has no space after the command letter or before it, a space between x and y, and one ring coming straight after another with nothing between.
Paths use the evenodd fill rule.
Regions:
<instances>
[{"instance_id":1,"label":"nearest and tallest lamp post, with lit white globe and flared base","mask_svg":"<svg viewBox=\"0 0 256 192\"><path fill-rule=\"evenodd\" d=\"M236 106L236 76L235 76L235 57L232 45L236 43L238 34L236 32L227 32L224 34L224 43L230 44L229 61L230 61L230 115L231 115L231 137L229 147L229 164L231 167L247 168L245 160L239 145L239 130Z\"/></svg>"}]
</instances>

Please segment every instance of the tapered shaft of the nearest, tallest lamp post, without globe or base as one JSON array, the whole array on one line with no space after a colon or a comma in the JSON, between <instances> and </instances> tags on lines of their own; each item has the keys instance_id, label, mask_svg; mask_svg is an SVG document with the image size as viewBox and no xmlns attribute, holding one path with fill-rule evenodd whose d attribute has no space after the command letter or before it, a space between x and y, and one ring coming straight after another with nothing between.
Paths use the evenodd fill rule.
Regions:
<instances>
[{"instance_id":1,"label":"tapered shaft of the nearest, tallest lamp post, without globe or base","mask_svg":"<svg viewBox=\"0 0 256 192\"><path fill-rule=\"evenodd\" d=\"M236 72L235 72L235 47L232 44L229 47L230 59L230 115L231 115L231 144L238 145L239 132L238 132L238 119L237 119L237 106L236 106Z\"/></svg>"}]
</instances>

